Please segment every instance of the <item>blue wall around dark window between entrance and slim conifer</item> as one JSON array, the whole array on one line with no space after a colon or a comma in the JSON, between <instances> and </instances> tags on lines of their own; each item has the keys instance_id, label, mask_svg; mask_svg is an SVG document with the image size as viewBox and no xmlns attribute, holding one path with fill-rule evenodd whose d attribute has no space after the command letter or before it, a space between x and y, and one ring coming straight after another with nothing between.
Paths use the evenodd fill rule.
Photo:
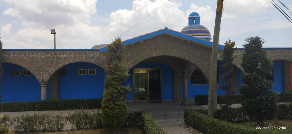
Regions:
<instances>
[{"instance_id":1,"label":"blue wall around dark window between entrance and slim conifer","mask_svg":"<svg viewBox=\"0 0 292 134\"><path fill-rule=\"evenodd\" d=\"M225 71L220 67L222 62L217 61L218 76L220 77ZM219 78L219 83L223 84L222 80ZM193 99L195 95L198 94L208 94L209 85L208 84L191 84L191 77L187 82L187 96L189 99ZM180 93L181 98L183 98L183 81L180 81ZM225 94L225 90L217 88L217 95Z\"/></svg>"}]
</instances>

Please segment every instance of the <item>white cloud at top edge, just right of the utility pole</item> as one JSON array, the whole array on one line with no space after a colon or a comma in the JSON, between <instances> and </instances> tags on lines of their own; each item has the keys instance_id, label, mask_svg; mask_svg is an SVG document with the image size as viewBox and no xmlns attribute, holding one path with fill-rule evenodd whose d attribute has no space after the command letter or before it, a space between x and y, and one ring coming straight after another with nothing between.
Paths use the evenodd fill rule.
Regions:
<instances>
[{"instance_id":1,"label":"white cloud at top edge, just right of the utility pole","mask_svg":"<svg viewBox=\"0 0 292 134\"><path fill-rule=\"evenodd\" d=\"M273 5L268 0L225 0L223 17L234 18L239 15L265 12L271 6Z\"/></svg>"}]
</instances>

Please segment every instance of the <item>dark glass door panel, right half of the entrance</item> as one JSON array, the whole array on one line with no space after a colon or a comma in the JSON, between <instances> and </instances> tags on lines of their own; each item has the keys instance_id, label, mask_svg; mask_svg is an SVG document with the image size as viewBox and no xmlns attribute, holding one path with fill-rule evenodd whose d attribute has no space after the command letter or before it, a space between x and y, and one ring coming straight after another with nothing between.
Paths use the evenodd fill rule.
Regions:
<instances>
[{"instance_id":1,"label":"dark glass door panel, right half of the entrance","mask_svg":"<svg viewBox=\"0 0 292 134\"><path fill-rule=\"evenodd\" d=\"M161 100L161 70L148 70L148 100Z\"/></svg>"}]
</instances>

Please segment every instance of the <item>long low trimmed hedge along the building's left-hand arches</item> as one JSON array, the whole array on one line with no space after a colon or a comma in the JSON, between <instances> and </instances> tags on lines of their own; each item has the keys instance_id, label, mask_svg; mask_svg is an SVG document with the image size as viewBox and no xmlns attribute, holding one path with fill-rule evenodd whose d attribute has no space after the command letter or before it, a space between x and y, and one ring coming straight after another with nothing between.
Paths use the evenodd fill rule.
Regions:
<instances>
[{"instance_id":1,"label":"long low trimmed hedge along the building's left-hand arches","mask_svg":"<svg viewBox=\"0 0 292 134\"><path fill-rule=\"evenodd\" d=\"M0 103L0 112L100 108L102 99L64 99Z\"/></svg>"}]
</instances>

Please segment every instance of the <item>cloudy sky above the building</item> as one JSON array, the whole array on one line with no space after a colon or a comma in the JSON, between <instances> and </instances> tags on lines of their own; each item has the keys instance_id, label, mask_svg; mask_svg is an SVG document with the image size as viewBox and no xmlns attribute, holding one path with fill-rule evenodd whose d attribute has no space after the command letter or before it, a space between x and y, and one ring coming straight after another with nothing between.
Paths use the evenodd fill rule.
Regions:
<instances>
[{"instance_id":1,"label":"cloudy sky above the building","mask_svg":"<svg viewBox=\"0 0 292 134\"><path fill-rule=\"evenodd\" d=\"M90 49L108 44L166 1L0 0L3 48L53 48L50 29L56 29L57 48ZM281 1L292 11L291 0ZM200 24L209 29L213 38L216 4L216 0L170 0L121 38L126 40L164 27L181 31L188 25L191 12L200 14ZM266 41L263 47L292 47L292 23L269 0L224 0L219 44L231 39L240 48L246 38L256 35Z\"/></svg>"}]
</instances>

